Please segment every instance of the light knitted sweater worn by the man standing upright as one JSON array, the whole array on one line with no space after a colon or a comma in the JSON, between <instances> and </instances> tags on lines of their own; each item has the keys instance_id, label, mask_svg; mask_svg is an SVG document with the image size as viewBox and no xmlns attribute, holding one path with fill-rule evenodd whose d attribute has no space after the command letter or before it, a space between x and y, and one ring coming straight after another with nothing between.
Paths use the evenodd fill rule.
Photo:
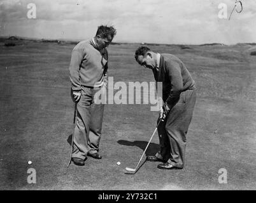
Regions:
<instances>
[{"instance_id":1,"label":"light knitted sweater worn by the man standing upright","mask_svg":"<svg viewBox=\"0 0 256 203\"><path fill-rule=\"evenodd\" d=\"M106 85L107 62L108 51L97 49L92 39L78 43L72 51L69 65L69 79L73 91L81 91L81 86L98 88Z\"/></svg>"}]
</instances>

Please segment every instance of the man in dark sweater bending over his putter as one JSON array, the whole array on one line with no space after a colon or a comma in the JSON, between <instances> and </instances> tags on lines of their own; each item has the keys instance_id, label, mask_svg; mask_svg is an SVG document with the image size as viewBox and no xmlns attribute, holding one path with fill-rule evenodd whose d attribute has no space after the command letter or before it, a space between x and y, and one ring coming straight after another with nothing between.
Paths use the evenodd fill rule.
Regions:
<instances>
[{"instance_id":1,"label":"man in dark sweater bending over his putter","mask_svg":"<svg viewBox=\"0 0 256 203\"><path fill-rule=\"evenodd\" d=\"M136 61L152 69L155 81L162 82L162 105L157 123L160 151L146 157L160 161L159 169L182 169L185 159L186 135L196 103L196 86L187 68L179 58L159 54L142 46L136 50Z\"/></svg>"}]
</instances>

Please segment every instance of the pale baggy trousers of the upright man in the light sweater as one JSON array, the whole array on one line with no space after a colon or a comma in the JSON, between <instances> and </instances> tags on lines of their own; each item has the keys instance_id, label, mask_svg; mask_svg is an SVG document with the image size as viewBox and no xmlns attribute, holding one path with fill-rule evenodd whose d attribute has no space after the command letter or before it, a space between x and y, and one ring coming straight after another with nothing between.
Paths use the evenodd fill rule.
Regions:
<instances>
[{"instance_id":1,"label":"pale baggy trousers of the upright man in the light sweater","mask_svg":"<svg viewBox=\"0 0 256 203\"><path fill-rule=\"evenodd\" d=\"M85 159L87 154L99 152L104 104L96 104L94 101L97 91L102 90L82 87L77 104L72 157Z\"/></svg>"}]
</instances>

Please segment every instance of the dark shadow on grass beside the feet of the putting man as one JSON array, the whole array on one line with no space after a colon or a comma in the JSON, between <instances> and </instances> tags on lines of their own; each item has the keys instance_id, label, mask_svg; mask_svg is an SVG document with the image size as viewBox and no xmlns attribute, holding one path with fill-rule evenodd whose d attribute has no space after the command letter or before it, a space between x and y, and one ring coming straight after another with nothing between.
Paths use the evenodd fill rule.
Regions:
<instances>
[{"instance_id":1,"label":"dark shadow on grass beside the feet of the putting man","mask_svg":"<svg viewBox=\"0 0 256 203\"><path fill-rule=\"evenodd\" d=\"M146 145L148 144L147 141L127 141L127 140L118 140L118 144L125 145L125 146L136 146L141 148L141 150L145 150ZM159 151L159 145L155 143L150 143L146 150L146 155L155 155Z\"/></svg>"}]
</instances>

